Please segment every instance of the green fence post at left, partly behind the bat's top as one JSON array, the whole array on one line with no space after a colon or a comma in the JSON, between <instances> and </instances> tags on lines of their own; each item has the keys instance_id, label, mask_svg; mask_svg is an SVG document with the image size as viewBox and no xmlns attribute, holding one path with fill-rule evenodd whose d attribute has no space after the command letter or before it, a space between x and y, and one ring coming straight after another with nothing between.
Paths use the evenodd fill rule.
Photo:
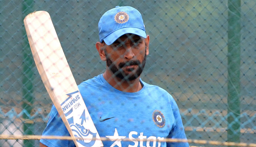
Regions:
<instances>
[{"instance_id":1,"label":"green fence post at left, partly behind the bat's top","mask_svg":"<svg viewBox=\"0 0 256 147\"><path fill-rule=\"evenodd\" d=\"M23 14L23 19L25 18L26 15L29 13L33 12L32 10L32 3L33 0L24 0L22 3L22 14ZM22 19L22 20L23 20ZM23 21L22 21L23 24ZM33 71L32 71L32 66L33 66L33 57L32 53L30 51L30 47L28 44L28 39L26 37L26 31L25 28L23 30L23 39L24 39L24 46L23 46L23 77L22 77L22 97L23 97L23 103L22 103L22 111L23 112L28 112L28 114L31 114L31 111L33 109ZM22 117L24 120L29 119L28 115L23 113ZM34 124L33 123L23 123L23 130L24 130L24 135L34 135L33 129L34 129ZM34 140L23 140L24 146L26 147L33 147Z\"/></svg>"}]
</instances>

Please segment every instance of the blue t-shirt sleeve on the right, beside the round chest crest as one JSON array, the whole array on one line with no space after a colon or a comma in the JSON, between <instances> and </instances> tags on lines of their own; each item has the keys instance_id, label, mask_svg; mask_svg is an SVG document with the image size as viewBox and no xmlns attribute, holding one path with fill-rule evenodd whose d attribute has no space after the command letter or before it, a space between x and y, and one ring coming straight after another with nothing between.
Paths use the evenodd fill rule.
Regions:
<instances>
[{"instance_id":1,"label":"blue t-shirt sleeve on the right, beside the round chest crest","mask_svg":"<svg viewBox=\"0 0 256 147\"><path fill-rule=\"evenodd\" d=\"M175 125L170 131L168 138L187 139L180 116L179 108L172 98L172 112L175 118ZM188 143L167 143L167 147L188 147Z\"/></svg>"}]
</instances>

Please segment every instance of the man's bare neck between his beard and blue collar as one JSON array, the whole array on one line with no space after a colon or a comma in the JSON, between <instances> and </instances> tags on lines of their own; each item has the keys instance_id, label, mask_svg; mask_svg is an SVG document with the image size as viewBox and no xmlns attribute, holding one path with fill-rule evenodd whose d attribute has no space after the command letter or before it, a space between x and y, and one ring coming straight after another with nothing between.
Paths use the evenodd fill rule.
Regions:
<instances>
[{"instance_id":1,"label":"man's bare neck between his beard and blue collar","mask_svg":"<svg viewBox=\"0 0 256 147\"><path fill-rule=\"evenodd\" d=\"M103 77L112 87L123 92L138 92L142 89L140 76L133 81L124 81L116 78L110 71L106 70Z\"/></svg>"}]
</instances>

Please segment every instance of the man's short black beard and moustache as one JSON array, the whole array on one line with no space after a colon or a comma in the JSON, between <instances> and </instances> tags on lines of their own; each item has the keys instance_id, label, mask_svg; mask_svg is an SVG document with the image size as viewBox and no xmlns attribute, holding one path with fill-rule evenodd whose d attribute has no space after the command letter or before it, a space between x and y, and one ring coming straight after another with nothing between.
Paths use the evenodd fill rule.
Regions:
<instances>
[{"instance_id":1,"label":"man's short black beard and moustache","mask_svg":"<svg viewBox=\"0 0 256 147\"><path fill-rule=\"evenodd\" d=\"M109 69L111 70L111 72L117 77L119 78L120 80L124 80L124 81L133 81L135 79L137 79L140 74L142 73L144 67L145 67L145 64L146 64L146 50L147 48L145 48L145 55L144 55L144 58L142 60L142 62L140 63L139 60L131 60L131 61L128 61L128 62L121 62L118 64L118 67L116 67L115 64L113 64L113 61L110 59L110 56L109 54L107 53L106 49L104 49L104 52L105 52L105 55L106 55L106 62L107 62L107 66L109 67ZM138 69L130 74L128 73L125 73L122 69L122 67L124 66L131 66L131 65L138 65Z\"/></svg>"}]
</instances>

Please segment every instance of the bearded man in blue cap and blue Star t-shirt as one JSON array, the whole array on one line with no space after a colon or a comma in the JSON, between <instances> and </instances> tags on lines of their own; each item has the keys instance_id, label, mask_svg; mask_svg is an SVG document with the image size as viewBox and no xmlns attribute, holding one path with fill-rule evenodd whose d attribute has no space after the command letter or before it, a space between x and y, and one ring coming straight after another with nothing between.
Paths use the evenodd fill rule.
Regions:
<instances>
[{"instance_id":1,"label":"bearded man in blue cap and blue Star t-shirt","mask_svg":"<svg viewBox=\"0 0 256 147\"><path fill-rule=\"evenodd\" d=\"M103 141L104 146L188 147L188 143L164 142L164 138L186 139L178 106L164 89L140 79L149 54L140 12L129 6L108 10L100 18L99 36L96 48L106 61L106 71L78 88L99 135L110 139ZM43 135L69 135L54 106ZM75 145L41 139L40 146Z\"/></svg>"}]
</instances>

